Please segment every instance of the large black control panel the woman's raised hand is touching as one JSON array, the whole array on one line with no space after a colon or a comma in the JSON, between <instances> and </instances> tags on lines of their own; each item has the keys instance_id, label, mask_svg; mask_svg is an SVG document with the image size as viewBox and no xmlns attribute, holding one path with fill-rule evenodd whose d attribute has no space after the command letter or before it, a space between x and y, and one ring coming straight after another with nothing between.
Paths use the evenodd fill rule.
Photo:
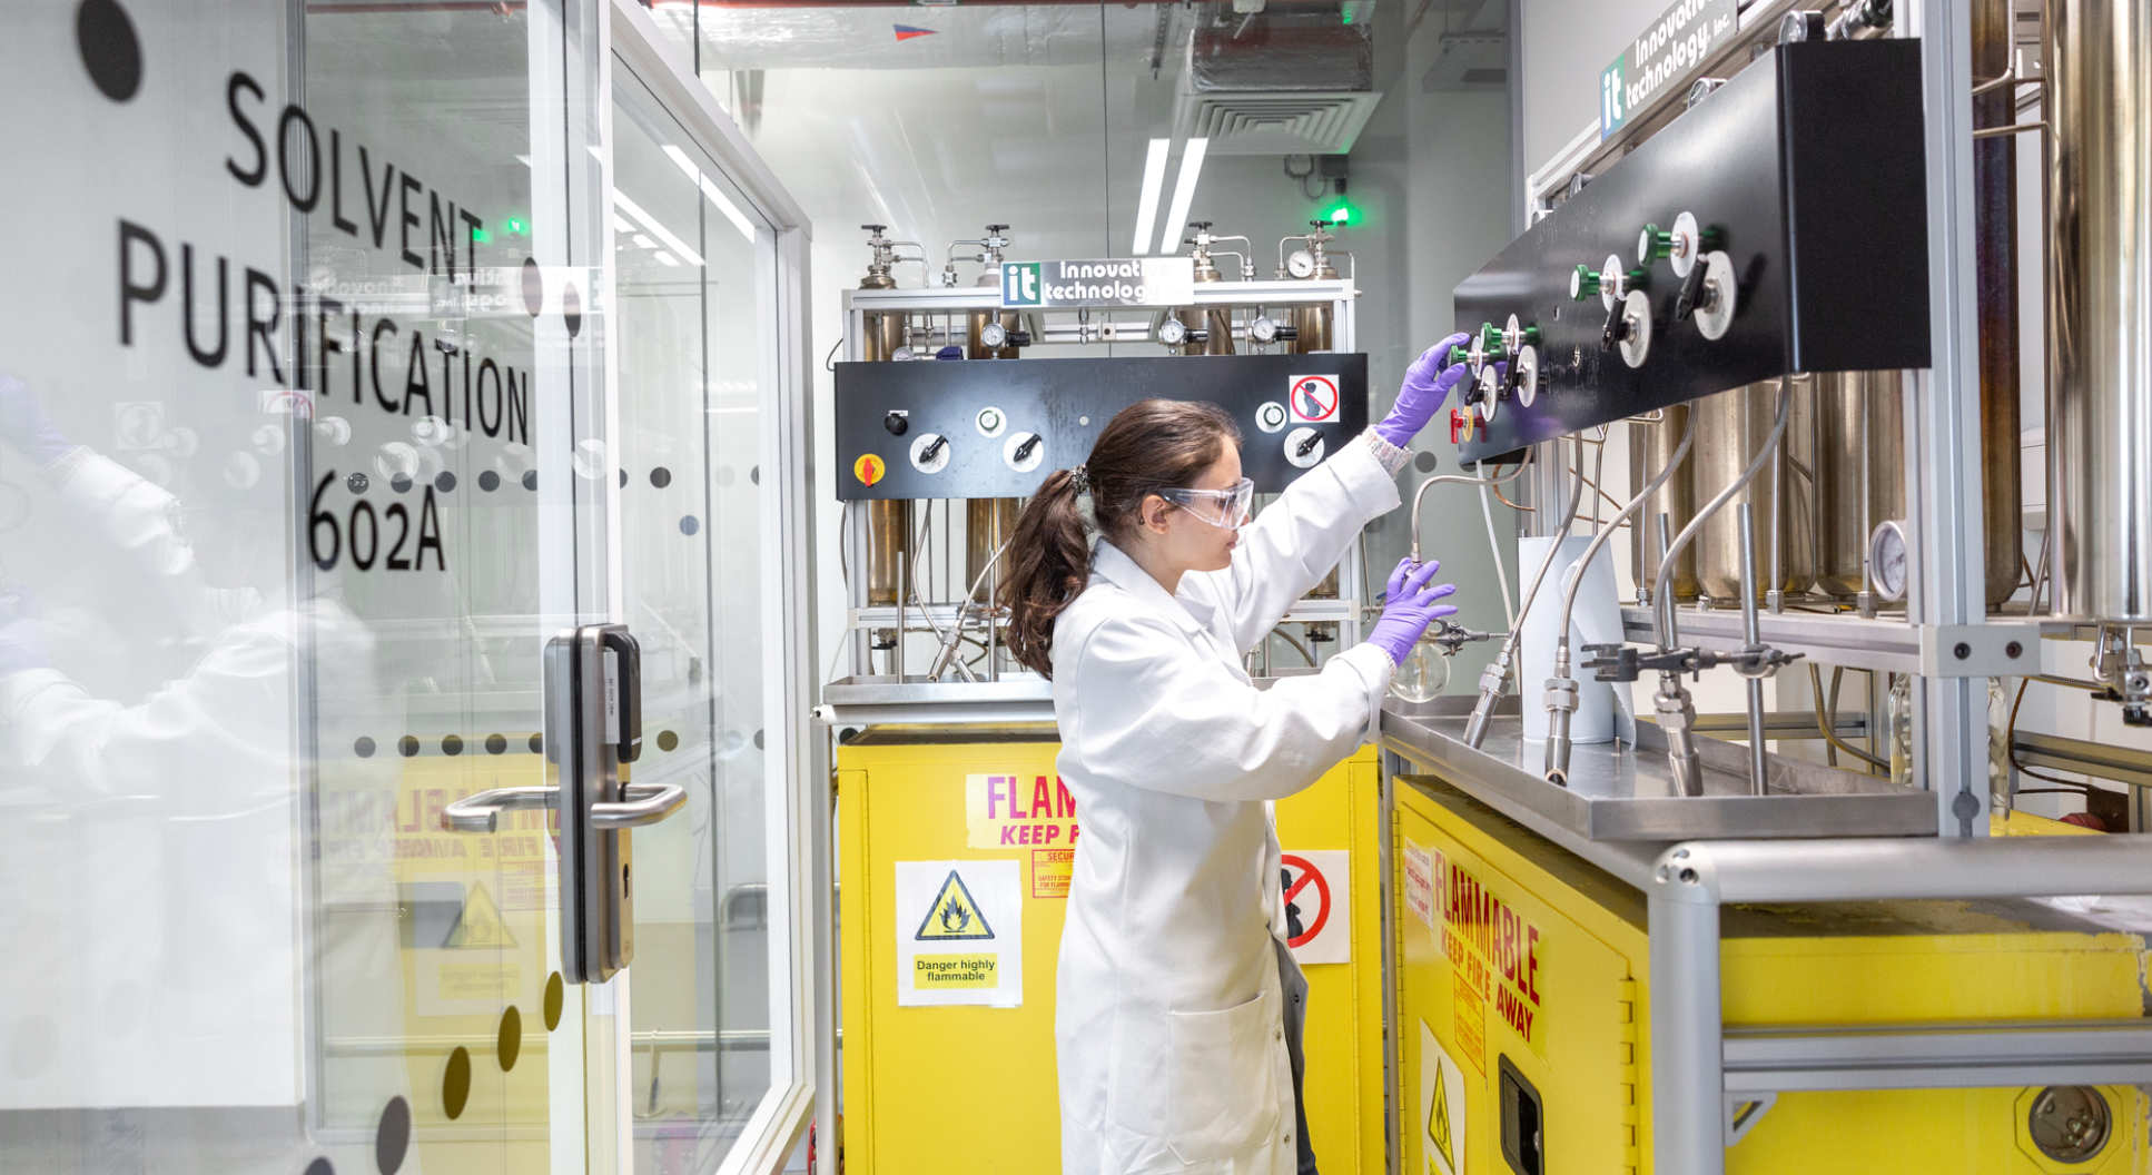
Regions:
<instances>
[{"instance_id":1,"label":"large black control panel the woman's raised hand is touching","mask_svg":"<svg viewBox=\"0 0 2152 1175\"><path fill-rule=\"evenodd\" d=\"M1917 41L1775 47L1457 286L1483 364L1459 456L1790 372L1928 366L1924 194Z\"/></svg>"}]
</instances>

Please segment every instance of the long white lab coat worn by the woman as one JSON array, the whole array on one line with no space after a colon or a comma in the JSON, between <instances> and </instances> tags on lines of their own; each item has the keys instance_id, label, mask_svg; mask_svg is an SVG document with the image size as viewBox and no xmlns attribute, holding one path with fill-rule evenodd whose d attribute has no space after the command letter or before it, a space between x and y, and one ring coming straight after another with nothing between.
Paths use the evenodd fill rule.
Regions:
<instances>
[{"instance_id":1,"label":"long white lab coat worn by the woman","mask_svg":"<svg viewBox=\"0 0 2152 1175\"><path fill-rule=\"evenodd\" d=\"M1067 1175L1296 1169L1265 801L1369 736L1394 667L1362 643L1259 691L1240 652L1397 501L1356 439L1177 596L1100 540L1054 622L1059 768L1082 829L1054 983Z\"/></svg>"}]
</instances>

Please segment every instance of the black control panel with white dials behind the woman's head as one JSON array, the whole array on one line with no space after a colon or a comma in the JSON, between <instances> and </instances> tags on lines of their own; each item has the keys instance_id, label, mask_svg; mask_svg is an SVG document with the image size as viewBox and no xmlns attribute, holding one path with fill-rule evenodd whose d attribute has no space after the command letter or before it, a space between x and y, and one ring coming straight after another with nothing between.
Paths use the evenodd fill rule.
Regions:
<instances>
[{"instance_id":1,"label":"black control panel with white dials behind the woman's head","mask_svg":"<svg viewBox=\"0 0 2152 1175\"><path fill-rule=\"evenodd\" d=\"M1209 400L1283 491L1367 428L1367 355L837 364L837 497L1029 497L1138 400Z\"/></svg>"}]
</instances>

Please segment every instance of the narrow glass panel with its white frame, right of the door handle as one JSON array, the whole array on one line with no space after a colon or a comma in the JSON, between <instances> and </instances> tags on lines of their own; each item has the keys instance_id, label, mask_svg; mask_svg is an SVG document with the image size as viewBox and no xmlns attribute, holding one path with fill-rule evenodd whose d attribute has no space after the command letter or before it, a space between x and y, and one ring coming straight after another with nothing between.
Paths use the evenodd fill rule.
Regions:
<instances>
[{"instance_id":1,"label":"narrow glass panel with its white frame, right of the door handle","mask_svg":"<svg viewBox=\"0 0 2152 1175\"><path fill-rule=\"evenodd\" d=\"M633 1169L768 1171L809 1095L803 540L785 532L803 465L779 407L803 364L785 370L796 316L777 222L719 161L727 121L661 45L641 13L615 24L620 598L643 648L648 745L635 779L691 796L635 846Z\"/></svg>"}]
</instances>

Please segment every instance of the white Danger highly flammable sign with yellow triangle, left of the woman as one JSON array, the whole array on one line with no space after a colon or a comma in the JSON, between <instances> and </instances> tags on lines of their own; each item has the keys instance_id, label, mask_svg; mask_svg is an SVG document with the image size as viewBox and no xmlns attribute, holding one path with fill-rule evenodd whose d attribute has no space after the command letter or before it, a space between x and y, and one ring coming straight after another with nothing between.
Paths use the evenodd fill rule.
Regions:
<instances>
[{"instance_id":1,"label":"white Danger highly flammable sign with yellow triangle, left of the woman","mask_svg":"<svg viewBox=\"0 0 2152 1175\"><path fill-rule=\"evenodd\" d=\"M897 861L897 1005L1024 1003L1018 861Z\"/></svg>"}]
</instances>

